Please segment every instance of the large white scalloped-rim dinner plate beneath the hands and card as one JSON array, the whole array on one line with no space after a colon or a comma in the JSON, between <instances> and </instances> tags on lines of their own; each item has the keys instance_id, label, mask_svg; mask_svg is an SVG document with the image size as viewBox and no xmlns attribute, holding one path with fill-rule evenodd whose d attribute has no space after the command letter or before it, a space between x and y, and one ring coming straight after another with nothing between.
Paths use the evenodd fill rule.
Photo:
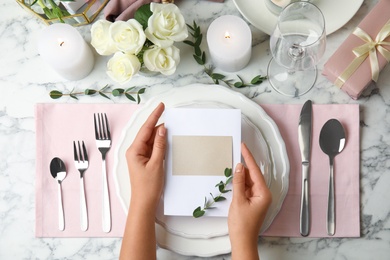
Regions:
<instances>
[{"instance_id":1,"label":"large white scalloped-rim dinner plate beneath the hands and card","mask_svg":"<svg viewBox=\"0 0 390 260\"><path fill-rule=\"evenodd\" d=\"M188 105L194 101L221 103L226 106L241 109L242 114L260 129L262 136L265 138L271 161L273 162L272 180L270 184L273 201L262 226L262 231L264 231L270 226L274 217L279 212L287 193L289 162L286 147L276 124L258 104L238 92L231 91L219 85L194 84L174 88L169 92L152 98L134 113L123 130L120 145L115 150L115 185L124 211L126 213L128 212L130 202L130 180L127 173L125 153L133 141L135 134L138 132L138 129L158 103L164 102L166 107L177 107ZM198 256L212 256L230 252L226 218L203 217L194 219L192 217L173 216L168 216L168 218L174 218L172 222L179 223L181 221L191 221L192 225L197 226L198 229L196 234L192 234L191 230L174 230L179 232L179 234L174 234L170 233L166 227L156 223L158 233L157 242L161 247L180 254ZM215 230L215 228L220 227L223 228L222 231L221 229ZM196 244L205 246L197 248L195 246Z\"/></svg>"}]
</instances>

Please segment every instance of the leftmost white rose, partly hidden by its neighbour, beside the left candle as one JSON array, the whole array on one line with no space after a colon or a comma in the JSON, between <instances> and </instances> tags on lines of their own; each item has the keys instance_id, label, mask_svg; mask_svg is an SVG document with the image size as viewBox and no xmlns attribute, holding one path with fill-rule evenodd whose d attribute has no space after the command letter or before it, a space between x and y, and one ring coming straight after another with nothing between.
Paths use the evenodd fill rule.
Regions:
<instances>
[{"instance_id":1,"label":"leftmost white rose, partly hidden by its neighbour, beside the left candle","mask_svg":"<svg viewBox=\"0 0 390 260\"><path fill-rule=\"evenodd\" d=\"M108 34L111 24L98 20L91 27L91 44L100 55L111 55L117 51Z\"/></svg>"}]
</instances>

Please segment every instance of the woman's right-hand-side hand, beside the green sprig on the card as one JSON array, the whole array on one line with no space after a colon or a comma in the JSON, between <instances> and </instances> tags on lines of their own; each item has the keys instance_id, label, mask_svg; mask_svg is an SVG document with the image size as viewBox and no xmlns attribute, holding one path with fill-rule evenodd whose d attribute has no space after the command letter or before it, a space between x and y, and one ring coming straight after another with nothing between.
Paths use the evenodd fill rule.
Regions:
<instances>
[{"instance_id":1,"label":"woman's right-hand-side hand, beside the green sprig on the card","mask_svg":"<svg viewBox=\"0 0 390 260\"><path fill-rule=\"evenodd\" d=\"M236 166L228 216L232 259L258 259L257 237L272 194L245 144L241 145L241 153L247 168L241 163Z\"/></svg>"}]
</instances>

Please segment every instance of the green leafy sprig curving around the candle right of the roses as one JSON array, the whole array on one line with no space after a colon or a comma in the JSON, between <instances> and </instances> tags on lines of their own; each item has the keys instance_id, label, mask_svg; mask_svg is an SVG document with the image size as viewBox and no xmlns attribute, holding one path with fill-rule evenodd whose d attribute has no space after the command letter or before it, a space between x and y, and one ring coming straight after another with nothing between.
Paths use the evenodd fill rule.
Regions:
<instances>
[{"instance_id":1,"label":"green leafy sprig curving around the candle right of the roses","mask_svg":"<svg viewBox=\"0 0 390 260\"><path fill-rule=\"evenodd\" d=\"M220 84L220 82L223 82L228 87L235 87L235 88L244 88L244 87L250 87L254 85L261 84L264 80L267 79L266 76L257 75L255 76L250 82L245 82L242 77L237 75L239 80L233 80L228 79L225 75L221 73L214 73L214 67L213 66L206 66L206 53L202 51L200 48L200 44L202 43L203 34L200 30L200 27L197 25L197 23L194 21L193 25L187 24L191 36L194 38L193 41L185 40L183 41L185 44L190 45L194 48L194 54L192 55L195 59L195 61L199 64L204 66L204 72L213 80L215 84Z\"/></svg>"}]
</instances>

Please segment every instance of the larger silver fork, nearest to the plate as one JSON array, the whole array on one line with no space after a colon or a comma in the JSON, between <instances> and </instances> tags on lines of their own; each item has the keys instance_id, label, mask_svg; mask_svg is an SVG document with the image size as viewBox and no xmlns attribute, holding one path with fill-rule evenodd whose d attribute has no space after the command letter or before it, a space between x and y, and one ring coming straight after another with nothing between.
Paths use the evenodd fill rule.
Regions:
<instances>
[{"instance_id":1,"label":"larger silver fork, nearest to the plate","mask_svg":"<svg viewBox=\"0 0 390 260\"><path fill-rule=\"evenodd\" d=\"M110 197L108 193L107 173L106 173L106 154L111 147L110 127L108 125L106 113L97 113L93 116L95 125L96 146L102 154L102 177L103 177L103 214L102 224L103 232L111 230L111 210Z\"/></svg>"}]
</instances>

